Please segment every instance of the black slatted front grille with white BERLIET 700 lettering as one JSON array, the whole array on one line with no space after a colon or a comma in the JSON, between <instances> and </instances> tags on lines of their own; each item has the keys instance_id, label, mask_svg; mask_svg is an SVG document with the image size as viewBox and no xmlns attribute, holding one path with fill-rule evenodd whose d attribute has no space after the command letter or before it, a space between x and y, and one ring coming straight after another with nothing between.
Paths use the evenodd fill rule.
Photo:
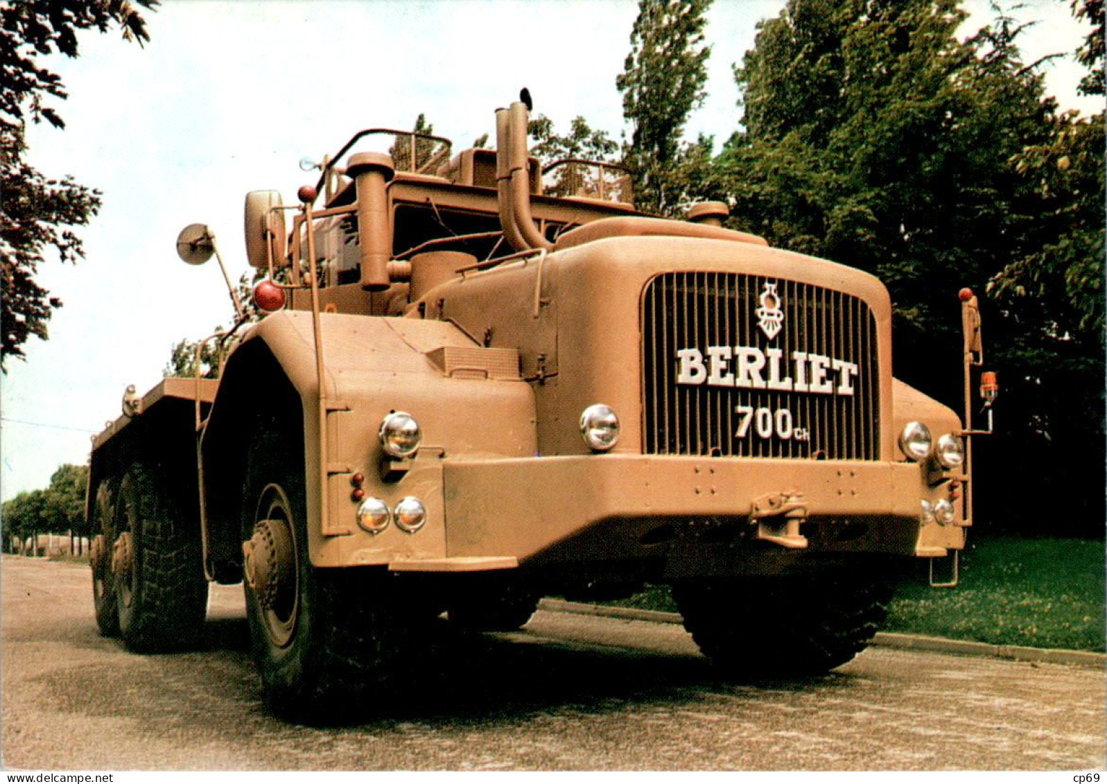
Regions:
<instances>
[{"instance_id":1,"label":"black slatted front grille with white BERLIET 700 lettering","mask_svg":"<svg viewBox=\"0 0 1107 784\"><path fill-rule=\"evenodd\" d=\"M642 373L645 454L879 455L877 328L857 297L666 272L642 297Z\"/></svg>"}]
</instances>

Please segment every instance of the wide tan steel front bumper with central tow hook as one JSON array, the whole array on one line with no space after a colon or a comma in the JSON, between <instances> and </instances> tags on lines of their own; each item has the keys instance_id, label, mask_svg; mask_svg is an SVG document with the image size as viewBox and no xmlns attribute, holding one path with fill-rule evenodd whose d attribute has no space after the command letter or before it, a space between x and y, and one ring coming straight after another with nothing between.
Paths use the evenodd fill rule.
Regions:
<instances>
[{"instance_id":1,"label":"wide tan steel front bumper with central tow hook","mask_svg":"<svg viewBox=\"0 0 1107 784\"><path fill-rule=\"evenodd\" d=\"M736 560L780 550L940 556L963 541L956 526L921 524L921 501L943 491L913 463L447 460L443 479L451 558L580 564L674 558L690 547Z\"/></svg>"}]
</instances>

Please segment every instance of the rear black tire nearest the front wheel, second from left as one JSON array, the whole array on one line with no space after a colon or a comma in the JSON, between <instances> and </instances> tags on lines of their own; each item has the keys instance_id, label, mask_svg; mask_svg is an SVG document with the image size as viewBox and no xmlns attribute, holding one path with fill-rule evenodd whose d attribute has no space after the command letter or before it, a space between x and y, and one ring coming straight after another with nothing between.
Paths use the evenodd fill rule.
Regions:
<instances>
[{"instance_id":1,"label":"rear black tire nearest the front wheel, second from left","mask_svg":"<svg viewBox=\"0 0 1107 784\"><path fill-rule=\"evenodd\" d=\"M200 532L173 502L161 468L143 461L131 465L112 519L123 641L145 653L195 644L207 611Z\"/></svg>"}]
</instances>

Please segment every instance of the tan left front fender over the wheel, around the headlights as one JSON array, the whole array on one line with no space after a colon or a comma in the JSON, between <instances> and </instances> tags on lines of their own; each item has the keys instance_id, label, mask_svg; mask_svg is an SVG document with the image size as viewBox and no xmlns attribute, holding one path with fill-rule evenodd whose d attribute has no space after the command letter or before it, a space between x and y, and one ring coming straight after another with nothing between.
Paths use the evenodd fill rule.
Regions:
<instances>
[{"instance_id":1,"label":"tan left front fender over the wheel, around the headlights","mask_svg":"<svg viewBox=\"0 0 1107 784\"><path fill-rule=\"evenodd\" d=\"M309 551L315 566L391 564L443 558L446 537L443 461L448 456L530 456L536 451L534 393L517 352L485 349L441 321L320 314L325 372L321 451L320 384L311 314L275 313L254 327L224 371L204 435L208 517L221 525L221 553L240 559L241 499L251 432L247 422L276 411L302 433ZM381 470L377 432L391 411L420 423L423 446L399 476ZM237 467L236 467L237 466ZM379 535L356 525L351 479L390 507L421 498L427 523L416 534L390 526ZM323 509L325 482L327 508ZM230 535L234 532L234 536ZM323 535L323 532L337 535Z\"/></svg>"}]
</instances>

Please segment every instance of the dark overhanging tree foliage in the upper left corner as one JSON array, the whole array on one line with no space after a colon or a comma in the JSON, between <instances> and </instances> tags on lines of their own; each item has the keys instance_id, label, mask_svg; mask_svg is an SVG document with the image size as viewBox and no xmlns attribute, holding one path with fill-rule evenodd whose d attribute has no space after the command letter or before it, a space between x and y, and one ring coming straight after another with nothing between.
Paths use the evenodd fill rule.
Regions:
<instances>
[{"instance_id":1,"label":"dark overhanging tree foliage in the upper left corner","mask_svg":"<svg viewBox=\"0 0 1107 784\"><path fill-rule=\"evenodd\" d=\"M25 359L23 343L32 334L49 337L46 322L62 302L34 279L48 247L74 262L84 256L72 227L87 225L100 209L100 192L43 175L24 161L28 120L64 127L50 97L64 100L61 78L39 58L60 52L76 58L82 30L106 32L115 25L127 41L149 40L136 6L153 9L158 0L21 0L0 8L0 272L3 278L0 371L11 357Z\"/></svg>"}]
</instances>

